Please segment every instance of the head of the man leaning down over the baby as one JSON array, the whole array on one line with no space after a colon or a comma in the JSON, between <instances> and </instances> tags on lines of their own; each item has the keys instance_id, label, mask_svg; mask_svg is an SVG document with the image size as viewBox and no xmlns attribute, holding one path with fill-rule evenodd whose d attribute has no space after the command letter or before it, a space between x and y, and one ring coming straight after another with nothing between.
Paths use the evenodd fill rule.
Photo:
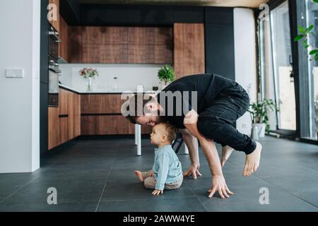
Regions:
<instances>
[{"instance_id":1,"label":"head of the man leaning down over the baby","mask_svg":"<svg viewBox=\"0 0 318 226\"><path fill-rule=\"evenodd\" d=\"M134 108L129 109L131 106L134 106ZM126 119L133 124L154 126L160 119L158 102L151 95L135 94L130 97L127 110L129 111L129 115L126 116Z\"/></svg>"}]
</instances>

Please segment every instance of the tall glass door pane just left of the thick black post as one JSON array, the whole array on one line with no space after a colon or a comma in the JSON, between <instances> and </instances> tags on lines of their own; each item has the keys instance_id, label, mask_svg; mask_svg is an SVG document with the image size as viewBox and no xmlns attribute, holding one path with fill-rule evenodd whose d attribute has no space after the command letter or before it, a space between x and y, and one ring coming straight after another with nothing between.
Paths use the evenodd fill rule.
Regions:
<instances>
[{"instance_id":1,"label":"tall glass door pane just left of the thick black post","mask_svg":"<svg viewBox=\"0 0 318 226\"><path fill-rule=\"evenodd\" d=\"M293 62L288 1L271 11L271 47L273 61L273 85L278 130L296 130L295 85L292 76Z\"/></svg>"}]
</instances>

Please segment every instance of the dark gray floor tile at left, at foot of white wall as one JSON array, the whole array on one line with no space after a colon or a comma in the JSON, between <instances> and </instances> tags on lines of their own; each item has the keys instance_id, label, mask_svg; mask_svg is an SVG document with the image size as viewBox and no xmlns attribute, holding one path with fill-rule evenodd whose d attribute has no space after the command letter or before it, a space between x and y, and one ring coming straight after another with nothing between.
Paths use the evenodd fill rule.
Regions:
<instances>
[{"instance_id":1,"label":"dark gray floor tile at left, at foot of white wall","mask_svg":"<svg viewBox=\"0 0 318 226\"><path fill-rule=\"evenodd\" d=\"M45 172L15 194L4 200L1 205L20 203L46 204L47 189L57 189L58 203L98 202L104 188L108 170L94 169L71 170L66 172Z\"/></svg>"}]
</instances>

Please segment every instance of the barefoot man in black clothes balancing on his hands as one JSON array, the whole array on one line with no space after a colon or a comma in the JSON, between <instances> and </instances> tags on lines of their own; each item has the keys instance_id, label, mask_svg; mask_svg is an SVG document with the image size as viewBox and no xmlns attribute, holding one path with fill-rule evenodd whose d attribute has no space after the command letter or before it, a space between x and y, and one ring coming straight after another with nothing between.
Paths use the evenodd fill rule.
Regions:
<instances>
[{"instance_id":1,"label":"barefoot man in black clothes balancing on his hands","mask_svg":"<svg viewBox=\"0 0 318 226\"><path fill-rule=\"evenodd\" d=\"M251 175L259 167L261 144L233 126L249 107L247 92L235 81L216 74L198 74L179 78L158 93L154 100L138 101L137 95L134 97L130 100L130 113L126 118L134 124L154 126L159 121L168 121L177 126L192 162L184 176L192 174L194 179L201 176L199 140L212 174L208 197L211 198L216 191L221 198L233 194L222 172L233 149L246 154L243 176ZM145 111L138 114L140 109ZM223 146L221 161L214 141Z\"/></svg>"}]
</instances>

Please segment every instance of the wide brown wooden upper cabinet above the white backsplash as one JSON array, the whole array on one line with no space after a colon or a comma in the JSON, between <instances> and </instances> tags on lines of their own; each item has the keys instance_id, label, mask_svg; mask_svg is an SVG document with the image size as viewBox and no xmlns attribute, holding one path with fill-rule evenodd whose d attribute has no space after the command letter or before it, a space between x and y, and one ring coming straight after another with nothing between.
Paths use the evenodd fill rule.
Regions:
<instances>
[{"instance_id":1,"label":"wide brown wooden upper cabinet above the white backsplash","mask_svg":"<svg viewBox=\"0 0 318 226\"><path fill-rule=\"evenodd\" d=\"M72 26L69 34L69 63L172 64L173 61L172 28Z\"/></svg>"}]
</instances>

